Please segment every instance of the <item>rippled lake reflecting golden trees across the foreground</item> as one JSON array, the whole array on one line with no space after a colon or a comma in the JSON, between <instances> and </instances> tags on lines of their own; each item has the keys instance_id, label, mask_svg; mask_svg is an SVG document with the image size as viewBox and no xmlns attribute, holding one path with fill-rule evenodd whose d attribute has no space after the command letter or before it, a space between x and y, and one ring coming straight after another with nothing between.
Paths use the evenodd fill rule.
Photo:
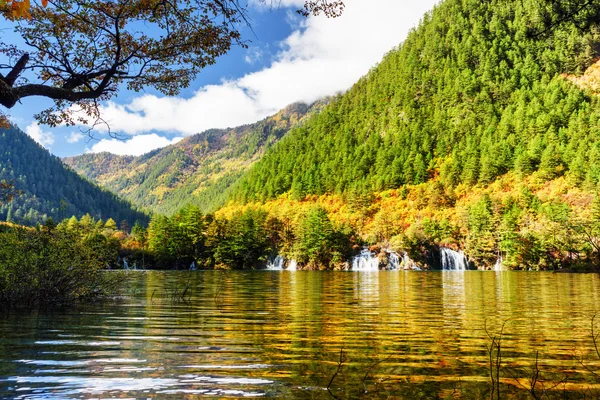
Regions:
<instances>
[{"instance_id":1,"label":"rippled lake reflecting golden trees across the foreground","mask_svg":"<svg viewBox=\"0 0 600 400\"><path fill-rule=\"evenodd\" d=\"M500 398L597 398L599 298L592 274L134 271L2 315L0 397L490 398L489 333Z\"/></svg>"}]
</instances>

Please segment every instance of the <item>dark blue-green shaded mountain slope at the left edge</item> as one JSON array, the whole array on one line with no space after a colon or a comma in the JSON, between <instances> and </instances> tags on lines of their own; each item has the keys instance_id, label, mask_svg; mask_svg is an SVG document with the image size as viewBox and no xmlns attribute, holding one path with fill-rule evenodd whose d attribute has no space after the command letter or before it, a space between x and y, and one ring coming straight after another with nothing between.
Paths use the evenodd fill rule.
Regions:
<instances>
[{"instance_id":1,"label":"dark blue-green shaded mountain slope at the left edge","mask_svg":"<svg viewBox=\"0 0 600 400\"><path fill-rule=\"evenodd\" d=\"M96 219L145 223L148 216L80 177L16 127L0 131L0 181L20 193L0 202L0 220L27 225L89 213Z\"/></svg>"}]
</instances>

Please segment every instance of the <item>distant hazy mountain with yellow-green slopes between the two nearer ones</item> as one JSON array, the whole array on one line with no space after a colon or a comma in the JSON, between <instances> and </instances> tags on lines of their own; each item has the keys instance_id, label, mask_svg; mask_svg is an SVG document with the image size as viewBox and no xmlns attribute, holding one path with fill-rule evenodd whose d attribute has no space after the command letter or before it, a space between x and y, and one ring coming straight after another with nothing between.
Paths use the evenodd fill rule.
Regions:
<instances>
[{"instance_id":1,"label":"distant hazy mountain with yellow-green slopes between the two nearer ones","mask_svg":"<svg viewBox=\"0 0 600 400\"><path fill-rule=\"evenodd\" d=\"M293 104L274 116L231 129L211 129L140 157L84 154L63 161L99 185L142 207L173 214L185 204L212 211L232 183L290 128L322 108Z\"/></svg>"}]
</instances>

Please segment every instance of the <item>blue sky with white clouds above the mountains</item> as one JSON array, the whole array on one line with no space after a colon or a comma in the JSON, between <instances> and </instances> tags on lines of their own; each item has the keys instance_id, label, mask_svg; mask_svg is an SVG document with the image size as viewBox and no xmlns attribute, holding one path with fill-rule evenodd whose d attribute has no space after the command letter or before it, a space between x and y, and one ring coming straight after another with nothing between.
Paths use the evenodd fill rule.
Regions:
<instances>
[{"instance_id":1,"label":"blue sky with white clouds above the mountains","mask_svg":"<svg viewBox=\"0 0 600 400\"><path fill-rule=\"evenodd\" d=\"M344 3L344 14L335 19L300 17L294 11L304 0L281 0L277 8L251 4L253 32L242 28L248 49L233 48L177 97L122 90L102 104L103 119L125 139L112 139L100 128L90 137L84 127L40 126L33 115L48 106L43 98L24 99L10 117L59 157L102 151L141 155L210 128L252 123L291 103L344 92L398 46L437 1Z\"/></svg>"}]
</instances>

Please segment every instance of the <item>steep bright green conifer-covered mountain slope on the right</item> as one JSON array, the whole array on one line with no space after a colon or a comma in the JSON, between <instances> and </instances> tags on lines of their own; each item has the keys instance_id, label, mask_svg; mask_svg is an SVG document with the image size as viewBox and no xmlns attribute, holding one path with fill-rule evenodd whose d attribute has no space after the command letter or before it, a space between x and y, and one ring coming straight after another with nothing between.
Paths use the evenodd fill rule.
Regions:
<instances>
[{"instance_id":1,"label":"steep bright green conifer-covered mountain slope on the right","mask_svg":"<svg viewBox=\"0 0 600 400\"><path fill-rule=\"evenodd\" d=\"M535 35L534 0L446 0L343 96L290 132L232 198L371 193L431 179L445 189L514 171L600 179L600 108L574 84L597 30Z\"/></svg>"}]
</instances>

